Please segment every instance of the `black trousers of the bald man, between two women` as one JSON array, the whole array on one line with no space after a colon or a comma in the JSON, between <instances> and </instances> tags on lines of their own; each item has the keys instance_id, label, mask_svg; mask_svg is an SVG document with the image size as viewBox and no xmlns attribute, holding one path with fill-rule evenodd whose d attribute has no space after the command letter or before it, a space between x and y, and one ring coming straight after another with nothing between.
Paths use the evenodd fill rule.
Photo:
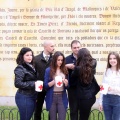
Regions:
<instances>
[{"instance_id":1,"label":"black trousers of the bald man, between two women","mask_svg":"<svg viewBox=\"0 0 120 120\"><path fill-rule=\"evenodd\" d=\"M44 104L46 92L38 92L37 101L36 101L36 108L34 113L34 120L41 120L41 113Z\"/></svg>"}]
</instances>

